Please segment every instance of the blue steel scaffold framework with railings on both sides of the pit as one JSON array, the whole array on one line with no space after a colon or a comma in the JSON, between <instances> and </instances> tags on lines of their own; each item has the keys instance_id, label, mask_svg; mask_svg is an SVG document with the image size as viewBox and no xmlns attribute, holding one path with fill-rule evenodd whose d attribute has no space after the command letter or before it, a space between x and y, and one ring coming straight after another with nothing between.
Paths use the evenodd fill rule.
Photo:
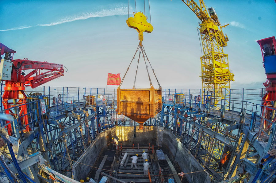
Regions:
<instances>
[{"instance_id":1,"label":"blue steel scaffold framework with railings on both sides of the pit","mask_svg":"<svg viewBox=\"0 0 276 183\"><path fill-rule=\"evenodd\" d=\"M54 87L48 88L47 97L50 99L50 104L45 115L41 114L40 105L40 101L44 99L28 103L27 115L29 126L32 128L31 133L25 134L26 126L20 125L21 119L17 116L13 116L15 119L10 122L0 120L2 128L9 123L12 124L13 137L21 142L18 152L13 152L12 143L7 143L12 159L10 165L13 165L16 171L9 168L10 165L8 166L3 159L0 160L3 172L12 182L17 180L37 182L38 177L47 180L45 176L32 174L35 171L31 160L24 162L16 160L24 154L33 153L30 156L36 157L38 155L35 152L38 149L50 169L67 177L74 177L74 172L71 171L74 161L102 130L115 125L132 124L129 119L123 119L124 123L122 120L116 121L115 90L92 88L72 90L68 87L59 87L56 91L52 88ZM216 107L212 106L212 93L205 95L203 92L203 100L198 101L191 94L202 95L201 90L180 90L163 90L162 110L155 118L149 119L147 125L163 126L172 130L179 141L209 172L212 181L230 182L247 178L247 182L257 180L269 182L275 178L275 171L266 170L272 158L265 157L267 152L275 147L275 123L269 129L269 134L262 129L263 121L267 120L261 116L262 105L248 101L245 89L239 90L239 94L242 94L239 99L230 98L229 103L221 101ZM45 87L41 87L40 92L45 95ZM261 92L258 93L259 97L262 96ZM185 93L185 98L180 103L175 103L177 93ZM232 93L235 95L237 92L232 91ZM85 95L96 96L95 105L86 106L83 100ZM106 101L102 101L99 95L106 95ZM168 101L169 95L174 95L172 101ZM209 99L205 100L206 97ZM18 106L15 106L10 110L19 113L18 109ZM1 113L5 113L5 110ZM1 136L6 138L3 134ZM268 138L266 143L259 141L264 136ZM222 165L220 159L224 158L225 153L228 161ZM24 163L25 173L21 170Z\"/></svg>"}]
</instances>

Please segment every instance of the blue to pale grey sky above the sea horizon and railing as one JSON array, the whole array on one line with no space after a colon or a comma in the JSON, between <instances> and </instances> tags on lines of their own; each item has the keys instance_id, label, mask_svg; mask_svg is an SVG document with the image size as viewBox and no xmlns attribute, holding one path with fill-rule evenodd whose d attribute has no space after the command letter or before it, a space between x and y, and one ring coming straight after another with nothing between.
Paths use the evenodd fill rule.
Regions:
<instances>
[{"instance_id":1,"label":"blue to pale grey sky above the sea horizon and railing","mask_svg":"<svg viewBox=\"0 0 276 183\"><path fill-rule=\"evenodd\" d=\"M198 0L195 0L198 3ZM132 12L144 12L153 31L143 45L162 88L201 88L201 46L195 14L181 0L129 1ZM108 73L124 76L138 46L138 32L126 24L127 0L2 1L0 42L17 51L13 59L63 64L68 71L44 86L107 86ZM205 0L213 7L229 38L224 53L235 75L231 88L262 88L266 81L256 40L276 35L274 0ZM145 7L145 8L144 8ZM150 13L149 13L150 12ZM132 88L136 56L121 88ZM136 88L148 88L143 62ZM67 70L65 69L65 70ZM158 87L150 70L153 85Z\"/></svg>"}]
</instances>

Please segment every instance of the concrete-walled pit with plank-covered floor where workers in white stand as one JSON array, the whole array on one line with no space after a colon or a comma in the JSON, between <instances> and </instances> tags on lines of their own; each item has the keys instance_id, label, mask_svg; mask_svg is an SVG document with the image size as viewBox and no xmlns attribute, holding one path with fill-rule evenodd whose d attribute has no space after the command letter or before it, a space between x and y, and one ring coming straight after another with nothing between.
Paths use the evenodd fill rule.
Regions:
<instances>
[{"instance_id":1,"label":"concrete-walled pit with plank-covered floor where workers in white stand","mask_svg":"<svg viewBox=\"0 0 276 183\"><path fill-rule=\"evenodd\" d=\"M112 137L118 139L117 150ZM148 175L143 171L143 150L148 153ZM136 154L137 168L131 168L131 157ZM160 126L144 126L143 130L139 126L115 126L101 132L75 162L73 172L77 181L89 177L114 183L210 182L209 174L180 140Z\"/></svg>"}]
</instances>

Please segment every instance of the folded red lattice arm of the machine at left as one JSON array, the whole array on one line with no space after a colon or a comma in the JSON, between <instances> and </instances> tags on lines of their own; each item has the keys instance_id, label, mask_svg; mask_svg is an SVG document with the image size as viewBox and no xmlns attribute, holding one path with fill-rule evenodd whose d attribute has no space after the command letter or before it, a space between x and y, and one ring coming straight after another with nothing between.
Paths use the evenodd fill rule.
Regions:
<instances>
[{"instance_id":1,"label":"folded red lattice arm of the machine at left","mask_svg":"<svg viewBox=\"0 0 276 183\"><path fill-rule=\"evenodd\" d=\"M30 73L26 74L23 70L30 70ZM45 70L45 72L41 72ZM28 59L17 59L13 60L13 72L12 79L17 79L17 75L25 75L24 82L25 86L31 86L35 88L48 81L63 76L64 69L62 64L54 64L49 62L32 61ZM35 76L32 76L35 75ZM12 81L12 80L11 80Z\"/></svg>"}]
</instances>

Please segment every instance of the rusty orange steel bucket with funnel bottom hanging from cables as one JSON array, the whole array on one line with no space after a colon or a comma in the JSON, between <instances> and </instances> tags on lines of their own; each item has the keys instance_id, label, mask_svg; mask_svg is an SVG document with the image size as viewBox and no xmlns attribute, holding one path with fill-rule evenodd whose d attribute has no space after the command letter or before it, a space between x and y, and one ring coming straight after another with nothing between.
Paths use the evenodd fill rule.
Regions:
<instances>
[{"instance_id":1,"label":"rusty orange steel bucket with funnel bottom hanging from cables","mask_svg":"<svg viewBox=\"0 0 276 183\"><path fill-rule=\"evenodd\" d=\"M162 89L117 89L117 112L140 124L154 117L162 108Z\"/></svg>"}]
</instances>

